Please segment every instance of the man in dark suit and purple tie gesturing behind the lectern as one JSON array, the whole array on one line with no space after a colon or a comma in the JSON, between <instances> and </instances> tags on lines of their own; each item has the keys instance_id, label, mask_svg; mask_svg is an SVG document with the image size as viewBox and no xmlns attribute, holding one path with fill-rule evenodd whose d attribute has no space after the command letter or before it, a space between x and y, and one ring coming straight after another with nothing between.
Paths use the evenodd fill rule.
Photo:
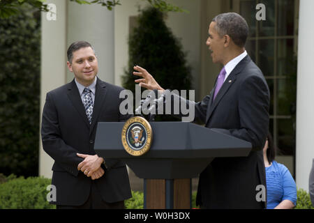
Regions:
<instances>
[{"instance_id":1,"label":"man in dark suit and purple tie gesturing behind the lectern","mask_svg":"<svg viewBox=\"0 0 314 223\"><path fill-rule=\"evenodd\" d=\"M248 24L237 13L212 20L206 44L213 62L223 69L209 95L201 102L187 101L195 106L195 121L253 146L248 157L215 158L202 171L197 189L197 204L202 208L265 208L266 194L259 194L260 185L266 187L262 148L269 127L269 89L246 53L247 37ZM147 70L140 66L134 70L134 75L142 77L135 81L140 86L163 91Z\"/></svg>"}]
</instances>

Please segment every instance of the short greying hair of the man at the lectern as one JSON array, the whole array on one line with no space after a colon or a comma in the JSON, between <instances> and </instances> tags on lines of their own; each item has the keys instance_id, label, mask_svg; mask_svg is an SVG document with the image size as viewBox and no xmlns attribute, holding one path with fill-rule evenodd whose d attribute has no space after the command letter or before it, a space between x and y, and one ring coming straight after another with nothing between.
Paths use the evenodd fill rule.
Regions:
<instances>
[{"instance_id":1,"label":"short greying hair of the man at the lectern","mask_svg":"<svg viewBox=\"0 0 314 223\"><path fill-rule=\"evenodd\" d=\"M238 47L246 45L248 23L241 15L237 13L223 13L214 17L211 22L216 22L215 28L220 37L228 35Z\"/></svg>"}]
</instances>

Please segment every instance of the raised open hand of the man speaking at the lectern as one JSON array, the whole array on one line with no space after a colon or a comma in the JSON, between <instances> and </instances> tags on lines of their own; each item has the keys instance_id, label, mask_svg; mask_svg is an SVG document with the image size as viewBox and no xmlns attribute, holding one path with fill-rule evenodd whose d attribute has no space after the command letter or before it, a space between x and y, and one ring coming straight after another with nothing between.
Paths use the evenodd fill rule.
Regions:
<instances>
[{"instance_id":1,"label":"raised open hand of the man speaking at the lectern","mask_svg":"<svg viewBox=\"0 0 314 223\"><path fill-rule=\"evenodd\" d=\"M142 77L142 79L135 79L136 83L140 83L140 86L144 87L145 89L149 90L160 90L164 91L164 89L156 82L153 76L147 72L144 68L141 68L140 66L135 66L133 68L137 72L133 72L133 75Z\"/></svg>"}]
</instances>

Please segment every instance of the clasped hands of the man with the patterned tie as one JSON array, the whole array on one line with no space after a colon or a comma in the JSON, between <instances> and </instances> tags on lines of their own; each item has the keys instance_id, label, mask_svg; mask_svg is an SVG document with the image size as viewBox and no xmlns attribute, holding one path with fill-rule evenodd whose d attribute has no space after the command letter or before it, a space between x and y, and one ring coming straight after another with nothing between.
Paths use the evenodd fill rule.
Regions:
<instances>
[{"instance_id":1,"label":"clasped hands of the man with the patterned tie","mask_svg":"<svg viewBox=\"0 0 314 223\"><path fill-rule=\"evenodd\" d=\"M99 169L103 162L103 158L98 157L98 155L86 155L81 153L77 153L76 155L84 158L84 160L77 165L77 169L82 171L86 176L91 176L94 171Z\"/></svg>"}]
</instances>

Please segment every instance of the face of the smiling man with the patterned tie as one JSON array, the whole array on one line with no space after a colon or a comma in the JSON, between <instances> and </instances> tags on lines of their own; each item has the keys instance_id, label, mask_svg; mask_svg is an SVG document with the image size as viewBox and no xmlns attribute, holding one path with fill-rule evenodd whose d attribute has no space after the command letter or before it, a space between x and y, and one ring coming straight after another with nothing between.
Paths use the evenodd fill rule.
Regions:
<instances>
[{"instance_id":1,"label":"face of the smiling man with the patterned tie","mask_svg":"<svg viewBox=\"0 0 314 223\"><path fill-rule=\"evenodd\" d=\"M89 86L98 73L98 61L91 47L84 47L73 52L72 63L68 61L68 69L73 72L77 82Z\"/></svg>"}]
</instances>

